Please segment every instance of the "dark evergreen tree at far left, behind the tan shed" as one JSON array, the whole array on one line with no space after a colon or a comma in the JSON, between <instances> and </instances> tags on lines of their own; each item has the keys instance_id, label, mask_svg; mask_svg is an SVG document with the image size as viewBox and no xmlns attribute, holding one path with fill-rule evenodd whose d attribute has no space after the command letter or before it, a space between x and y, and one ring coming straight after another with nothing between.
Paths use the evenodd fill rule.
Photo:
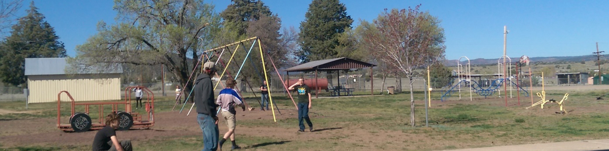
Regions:
<instances>
[{"instance_id":1,"label":"dark evergreen tree at far left, behind the tan shed","mask_svg":"<svg viewBox=\"0 0 609 151\"><path fill-rule=\"evenodd\" d=\"M12 27L10 37L1 45L2 82L15 86L26 82L25 58L66 57L66 49L58 40L55 30L44 21L44 15L38 12L32 1L27 15L19 18L19 22Z\"/></svg>"}]
</instances>

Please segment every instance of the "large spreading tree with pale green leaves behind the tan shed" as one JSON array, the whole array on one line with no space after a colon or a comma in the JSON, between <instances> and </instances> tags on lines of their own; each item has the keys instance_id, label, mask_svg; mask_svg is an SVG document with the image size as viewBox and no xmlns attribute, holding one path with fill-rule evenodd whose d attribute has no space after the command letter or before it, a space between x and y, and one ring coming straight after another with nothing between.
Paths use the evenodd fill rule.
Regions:
<instances>
[{"instance_id":1,"label":"large spreading tree with pale green leaves behind the tan shed","mask_svg":"<svg viewBox=\"0 0 609 151\"><path fill-rule=\"evenodd\" d=\"M186 85L191 73L200 71L194 65L202 52L220 45L213 41L220 32L220 16L201 0L115 0L114 10L118 23L101 21L98 33L76 47L79 55L71 63L101 70L125 63L164 65Z\"/></svg>"}]
</instances>

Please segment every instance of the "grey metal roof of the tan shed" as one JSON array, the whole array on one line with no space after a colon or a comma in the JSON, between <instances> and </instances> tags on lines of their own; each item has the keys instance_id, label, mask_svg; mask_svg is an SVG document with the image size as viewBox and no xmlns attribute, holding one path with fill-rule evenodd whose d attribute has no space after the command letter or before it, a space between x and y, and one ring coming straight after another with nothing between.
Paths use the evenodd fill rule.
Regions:
<instances>
[{"instance_id":1,"label":"grey metal roof of the tan shed","mask_svg":"<svg viewBox=\"0 0 609 151\"><path fill-rule=\"evenodd\" d=\"M61 75L66 74L68 68L67 58L26 58L25 76L34 75ZM120 74L122 66L116 65L116 68L111 70L77 70L77 74Z\"/></svg>"}]
</instances>

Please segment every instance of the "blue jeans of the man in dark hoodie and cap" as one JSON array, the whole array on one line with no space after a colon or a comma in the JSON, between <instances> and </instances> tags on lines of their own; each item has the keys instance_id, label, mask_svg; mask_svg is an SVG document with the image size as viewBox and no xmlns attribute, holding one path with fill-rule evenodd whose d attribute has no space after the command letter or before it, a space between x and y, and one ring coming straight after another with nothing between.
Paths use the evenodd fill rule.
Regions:
<instances>
[{"instance_id":1,"label":"blue jeans of the man in dark hoodie and cap","mask_svg":"<svg viewBox=\"0 0 609 151\"><path fill-rule=\"evenodd\" d=\"M208 114L197 115L197 122L203 132L203 150L202 151L216 151L218 149L218 125L214 118L211 118Z\"/></svg>"}]
</instances>

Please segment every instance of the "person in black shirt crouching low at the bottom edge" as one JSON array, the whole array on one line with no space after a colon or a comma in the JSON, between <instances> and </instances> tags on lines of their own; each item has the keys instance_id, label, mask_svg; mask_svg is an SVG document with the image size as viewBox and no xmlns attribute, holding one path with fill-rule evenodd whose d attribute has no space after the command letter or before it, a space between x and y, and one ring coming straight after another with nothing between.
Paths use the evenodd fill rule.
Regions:
<instances>
[{"instance_id":1,"label":"person in black shirt crouching low at the bottom edge","mask_svg":"<svg viewBox=\"0 0 609 151\"><path fill-rule=\"evenodd\" d=\"M118 138L116 138L116 131L114 131L114 129L118 128L118 121L119 118L118 116L116 116L116 113L108 114L108 116L106 117L106 127L97 131L97 134L93 139L93 151L133 150L130 140L123 140L119 142Z\"/></svg>"}]
</instances>

